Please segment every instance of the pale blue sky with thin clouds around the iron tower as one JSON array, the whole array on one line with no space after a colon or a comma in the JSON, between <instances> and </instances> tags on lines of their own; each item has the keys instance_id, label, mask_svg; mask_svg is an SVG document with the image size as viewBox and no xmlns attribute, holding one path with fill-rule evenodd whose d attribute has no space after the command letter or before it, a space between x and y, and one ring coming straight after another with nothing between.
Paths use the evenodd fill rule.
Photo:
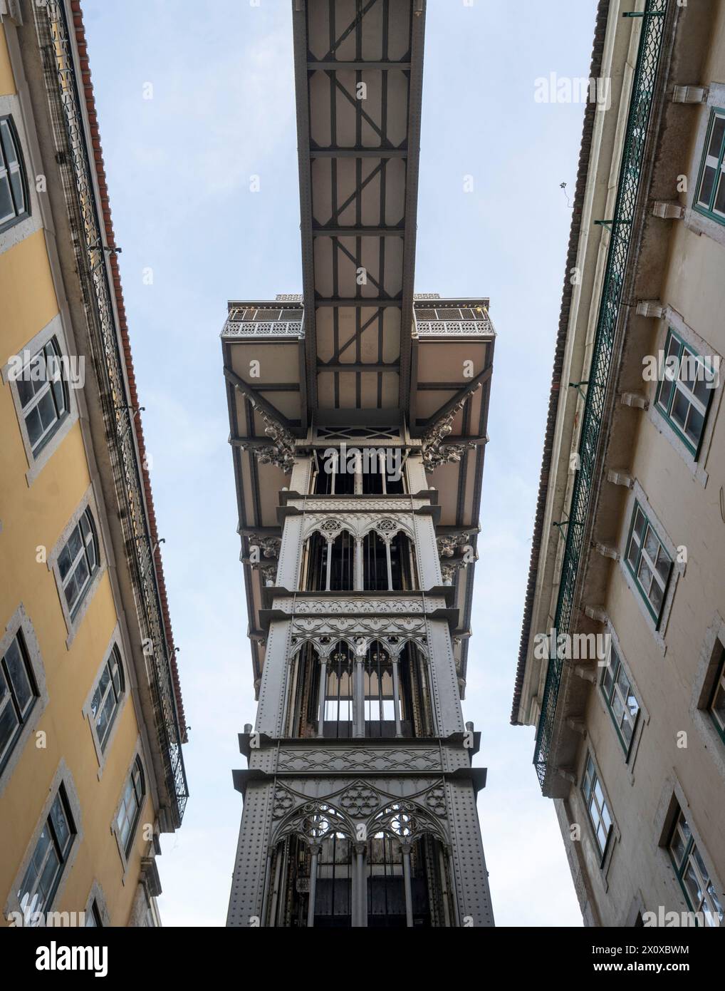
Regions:
<instances>
[{"instance_id":1,"label":"pale blue sky with thin clouds around the iron tower","mask_svg":"<svg viewBox=\"0 0 725 991\"><path fill-rule=\"evenodd\" d=\"M223 926L256 703L219 334L228 299L302 290L291 0L82 6L191 727L158 904L165 926ZM509 716L583 120L537 80L588 75L594 14L428 0L426 16L415 290L489 296L498 335L464 716L499 926L581 925L534 730Z\"/></svg>"}]
</instances>

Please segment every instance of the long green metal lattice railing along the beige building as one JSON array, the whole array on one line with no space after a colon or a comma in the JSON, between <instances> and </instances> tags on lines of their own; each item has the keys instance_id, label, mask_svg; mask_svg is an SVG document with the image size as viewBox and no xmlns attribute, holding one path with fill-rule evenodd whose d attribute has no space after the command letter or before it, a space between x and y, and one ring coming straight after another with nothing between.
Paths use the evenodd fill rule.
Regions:
<instances>
[{"instance_id":1,"label":"long green metal lattice railing along the beige building","mask_svg":"<svg viewBox=\"0 0 725 991\"><path fill-rule=\"evenodd\" d=\"M611 221L611 239L581 420L579 468L571 492L567 542L554 622L558 633L566 632L570 627L574 590L584 549L585 523L594 488L594 469L611 372L614 335L619 318L624 275L629 260L648 126L655 98L655 82L662 55L668 2L669 0L647 0L643 16L614 217ZM542 787L547 775L563 666L564 661L558 657L550 660L542 699L534 752L534 764Z\"/></svg>"}]
</instances>

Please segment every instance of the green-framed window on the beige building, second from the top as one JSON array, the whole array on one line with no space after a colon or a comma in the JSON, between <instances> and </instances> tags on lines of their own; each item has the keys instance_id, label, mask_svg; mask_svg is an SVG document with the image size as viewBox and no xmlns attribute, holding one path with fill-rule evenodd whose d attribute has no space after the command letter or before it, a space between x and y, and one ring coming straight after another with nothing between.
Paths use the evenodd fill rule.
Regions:
<instances>
[{"instance_id":1,"label":"green-framed window on the beige building, second from the top","mask_svg":"<svg viewBox=\"0 0 725 991\"><path fill-rule=\"evenodd\" d=\"M671 327L665 344L666 361L675 359L677 376L664 375L657 387L655 405L693 458L697 458L713 388L708 388L704 359ZM696 367L692 375L692 366ZM702 369L700 373L698 370ZM689 375L688 375L689 373Z\"/></svg>"}]
</instances>

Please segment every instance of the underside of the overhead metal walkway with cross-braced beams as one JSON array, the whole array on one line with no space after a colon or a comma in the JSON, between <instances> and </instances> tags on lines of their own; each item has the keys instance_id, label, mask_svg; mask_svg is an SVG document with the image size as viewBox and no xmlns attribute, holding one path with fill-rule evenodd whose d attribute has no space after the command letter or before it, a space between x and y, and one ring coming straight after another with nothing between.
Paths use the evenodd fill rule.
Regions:
<instances>
[{"instance_id":1,"label":"underside of the overhead metal walkway with cross-braced beams","mask_svg":"<svg viewBox=\"0 0 725 991\"><path fill-rule=\"evenodd\" d=\"M293 10L309 410L397 421L410 391L423 0Z\"/></svg>"}]
</instances>

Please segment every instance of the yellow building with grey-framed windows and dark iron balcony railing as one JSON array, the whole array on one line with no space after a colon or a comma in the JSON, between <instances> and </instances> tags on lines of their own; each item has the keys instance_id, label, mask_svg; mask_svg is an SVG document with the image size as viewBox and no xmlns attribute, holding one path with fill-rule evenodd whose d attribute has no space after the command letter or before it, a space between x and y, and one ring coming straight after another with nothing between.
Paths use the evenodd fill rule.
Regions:
<instances>
[{"instance_id":1,"label":"yellow building with grey-framed windows and dark iron balcony railing","mask_svg":"<svg viewBox=\"0 0 725 991\"><path fill-rule=\"evenodd\" d=\"M83 28L0 17L3 916L155 926L186 729Z\"/></svg>"}]
</instances>

